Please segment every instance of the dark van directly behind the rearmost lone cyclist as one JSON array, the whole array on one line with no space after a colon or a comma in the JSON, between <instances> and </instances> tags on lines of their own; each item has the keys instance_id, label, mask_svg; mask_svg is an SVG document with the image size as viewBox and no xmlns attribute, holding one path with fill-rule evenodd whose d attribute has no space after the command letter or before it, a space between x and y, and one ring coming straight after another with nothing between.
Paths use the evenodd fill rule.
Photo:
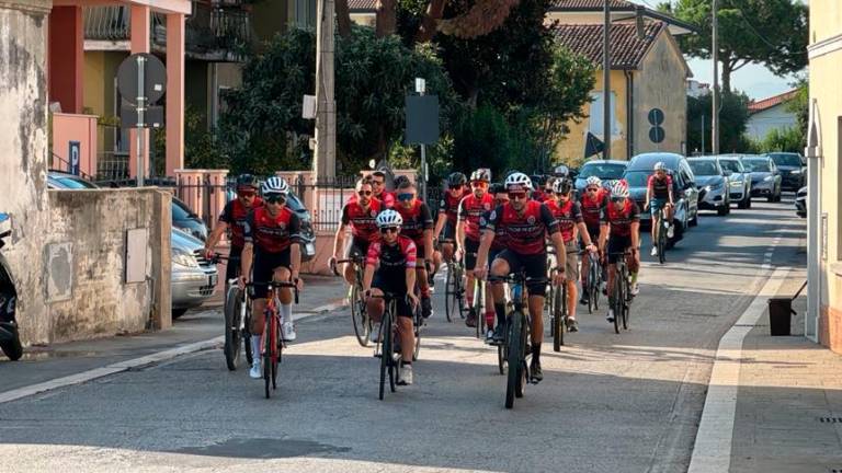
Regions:
<instances>
[{"instance_id":1,"label":"dark van directly behind the rearmost lone cyclist","mask_svg":"<svg viewBox=\"0 0 842 473\"><path fill-rule=\"evenodd\" d=\"M655 164L659 161L667 165L670 175L672 175L672 192L675 198L675 236L669 243L674 244L682 239L689 227L695 227L698 223L698 189L687 159L681 154L665 152L638 154L628 162L623 178L628 182L632 198L640 207L641 222L648 222L651 215L648 211L642 211L646 204L647 181L653 174Z\"/></svg>"}]
</instances>

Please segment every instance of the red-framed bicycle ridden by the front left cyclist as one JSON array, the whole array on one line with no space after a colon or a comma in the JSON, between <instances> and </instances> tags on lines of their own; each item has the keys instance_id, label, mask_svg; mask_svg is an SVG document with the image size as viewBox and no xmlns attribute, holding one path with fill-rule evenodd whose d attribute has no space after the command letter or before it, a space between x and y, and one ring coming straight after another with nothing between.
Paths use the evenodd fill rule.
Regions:
<instances>
[{"instance_id":1,"label":"red-framed bicycle ridden by the front left cyclist","mask_svg":"<svg viewBox=\"0 0 842 473\"><path fill-rule=\"evenodd\" d=\"M298 303L298 287L295 282L272 281L272 282L249 282L246 287L254 288L257 286L268 287L265 324L263 335L261 335L261 353L263 358L263 382L266 399L271 396L271 391L277 389L277 365L281 362L285 344L281 337L281 314L277 311L281 301L277 298L277 289L292 288L295 295L295 303ZM270 390L270 387L272 388Z\"/></svg>"}]
</instances>

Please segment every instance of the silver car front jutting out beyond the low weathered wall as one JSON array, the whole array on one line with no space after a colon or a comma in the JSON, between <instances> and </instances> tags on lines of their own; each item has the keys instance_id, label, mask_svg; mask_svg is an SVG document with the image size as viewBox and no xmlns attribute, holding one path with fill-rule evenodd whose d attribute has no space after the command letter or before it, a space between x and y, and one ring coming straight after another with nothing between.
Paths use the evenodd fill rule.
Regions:
<instances>
[{"instance_id":1,"label":"silver car front jutting out beyond the low weathered wall","mask_svg":"<svg viewBox=\"0 0 842 473\"><path fill-rule=\"evenodd\" d=\"M219 278L216 264L205 258L205 243L173 228L172 241L172 318L178 319L214 296Z\"/></svg>"}]
</instances>

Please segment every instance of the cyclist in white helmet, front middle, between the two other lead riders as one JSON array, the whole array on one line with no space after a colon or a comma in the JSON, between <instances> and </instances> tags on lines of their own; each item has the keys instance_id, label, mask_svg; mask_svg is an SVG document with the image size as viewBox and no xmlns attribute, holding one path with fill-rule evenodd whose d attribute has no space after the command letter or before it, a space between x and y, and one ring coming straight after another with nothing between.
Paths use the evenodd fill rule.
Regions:
<instances>
[{"instance_id":1,"label":"cyclist in white helmet, front middle, between the two other lead riders","mask_svg":"<svg viewBox=\"0 0 842 473\"><path fill-rule=\"evenodd\" d=\"M383 299L371 296L383 296L384 291L400 295L395 302L397 305L397 326L400 339L401 369L399 384L412 384L412 354L414 351L414 334L412 327L412 305L418 299L412 292L416 286L417 249L412 239L400 233L403 219L400 214L388 209L377 216L377 227L380 231L379 241L368 246L365 259L365 289L368 314L376 323L372 328L372 338L376 343L380 333L380 321L385 304ZM384 354L386 356L386 354Z\"/></svg>"}]
</instances>

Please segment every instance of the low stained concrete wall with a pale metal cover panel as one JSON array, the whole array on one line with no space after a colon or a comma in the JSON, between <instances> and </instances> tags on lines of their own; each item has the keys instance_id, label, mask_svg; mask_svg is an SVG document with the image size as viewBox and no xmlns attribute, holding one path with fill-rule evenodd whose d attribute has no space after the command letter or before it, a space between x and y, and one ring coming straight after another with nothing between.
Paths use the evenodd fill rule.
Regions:
<instances>
[{"instance_id":1,"label":"low stained concrete wall with a pale metal cover panel","mask_svg":"<svg viewBox=\"0 0 842 473\"><path fill-rule=\"evenodd\" d=\"M49 343L170 325L170 194L155 188L49 191L43 249ZM126 282L127 231L145 229L140 279Z\"/></svg>"}]
</instances>

